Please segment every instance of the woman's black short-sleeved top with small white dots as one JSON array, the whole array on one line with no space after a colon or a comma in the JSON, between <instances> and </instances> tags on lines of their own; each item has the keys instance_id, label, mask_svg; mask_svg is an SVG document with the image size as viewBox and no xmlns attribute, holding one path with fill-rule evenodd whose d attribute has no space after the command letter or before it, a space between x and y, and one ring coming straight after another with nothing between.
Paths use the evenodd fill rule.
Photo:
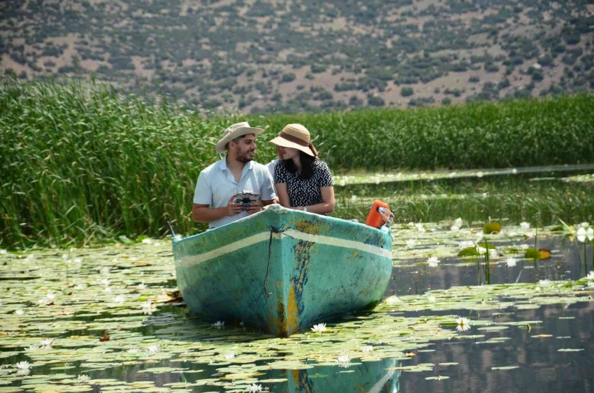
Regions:
<instances>
[{"instance_id":1,"label":"woman's black short-sleeved top with small white dots","mask_svg":"<svg viewBox=\"0 0 594 393\"><path fill-rule=\"evenodd\" d=\"M328 165L319 159L313 163L313 174L307 180L301 179L297 173L287 171L284 161L280 161L275 168L275 184L286 183L291 206L311 206L322 203L321 187L330 187L332 175Z\"/></svg>"}]
</instances>

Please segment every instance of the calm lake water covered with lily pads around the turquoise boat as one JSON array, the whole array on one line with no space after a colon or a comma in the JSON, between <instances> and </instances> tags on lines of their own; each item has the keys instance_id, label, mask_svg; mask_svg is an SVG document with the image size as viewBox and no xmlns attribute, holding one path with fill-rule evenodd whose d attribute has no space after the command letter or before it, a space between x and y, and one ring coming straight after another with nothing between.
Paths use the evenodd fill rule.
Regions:
<instances>
[{"instance_id":1,"label":"calm lake water covered with lily pads around the turquoise boat","mask_svg":"<svg viewBox=\"0 0 594 393\"><path fill-rule=\"evenodd\" d=\"M594 280L576 281L586 276L582 246L543 236L551 259L534 263L510 249L523 238L493 243L491 285L483 259L449 252L429 267L428 255L455 242L425 242L396 254L386 306L290 338L217 329L167 304L167 242L0 255L0 393L242 392L254 383L303 393L594 392ZM591 266L591 248L587 258ZM456 330L456 317L470 329ZM17 371L25 361L28 373Z\"/></svg>"}]
</instances>

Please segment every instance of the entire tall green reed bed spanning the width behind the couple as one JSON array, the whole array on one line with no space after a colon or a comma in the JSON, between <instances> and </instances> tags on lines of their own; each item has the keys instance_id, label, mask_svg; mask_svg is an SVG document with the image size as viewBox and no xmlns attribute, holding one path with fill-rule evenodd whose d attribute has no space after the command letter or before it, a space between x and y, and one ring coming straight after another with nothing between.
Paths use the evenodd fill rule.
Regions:
<instances>
[{"instance_id":1,"label":"entire tall green reed bed spanning the width behind the couple","mask_svg":"<svg viewBox=\"0 0 594 393\"><path fill-rule=\"evenodd\" d=\"M0 246L162 236L167 220L182 234L203 228L190 218L196 178L219 159L214 146L222 129L240 120L151 106L103 86L1 80ZM264 141L287 122L303 122L334 171L594 157L591 96L247 120L266 129L259 162L274 157Z\"/></svg>"}]
</instances>

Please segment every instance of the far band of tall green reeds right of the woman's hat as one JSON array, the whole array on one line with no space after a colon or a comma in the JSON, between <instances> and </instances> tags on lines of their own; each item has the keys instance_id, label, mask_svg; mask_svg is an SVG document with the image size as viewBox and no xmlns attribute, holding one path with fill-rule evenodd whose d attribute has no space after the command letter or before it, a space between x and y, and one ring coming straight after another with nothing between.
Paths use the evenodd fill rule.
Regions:
<instances>
[{"instance_id":1,"label":"far band of tall green reeds right of the woman's hat","mask_svg":"<svg viewBox=\"0 0 594 393\"><path fill-rule=\"evenodd\" d=\"M351 113L277 115L302 122L335 169L480 169L591 163L594 96Z\"/></svg>"}]
</instances>

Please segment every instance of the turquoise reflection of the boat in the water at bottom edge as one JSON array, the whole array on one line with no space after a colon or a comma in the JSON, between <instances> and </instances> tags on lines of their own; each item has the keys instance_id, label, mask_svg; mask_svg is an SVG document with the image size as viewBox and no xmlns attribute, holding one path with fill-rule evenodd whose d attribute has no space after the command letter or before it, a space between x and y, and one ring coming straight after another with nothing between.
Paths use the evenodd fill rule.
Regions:
<instances>
[{"instance_id":1,"label":"turquoise reflection of the boat in the water at bottom edge","mask_svg":"<svg viewBox=\"0 0 594 393\"><path fill-rule=\"evenodd\" d=\"M282 393L396 393L400 391L400 364L394 359L362 362L349 368L315 366L305 370L279 370L266 373L261 379L287 378L289 381L272 387Z\"/></svg>"}]
</instances>

